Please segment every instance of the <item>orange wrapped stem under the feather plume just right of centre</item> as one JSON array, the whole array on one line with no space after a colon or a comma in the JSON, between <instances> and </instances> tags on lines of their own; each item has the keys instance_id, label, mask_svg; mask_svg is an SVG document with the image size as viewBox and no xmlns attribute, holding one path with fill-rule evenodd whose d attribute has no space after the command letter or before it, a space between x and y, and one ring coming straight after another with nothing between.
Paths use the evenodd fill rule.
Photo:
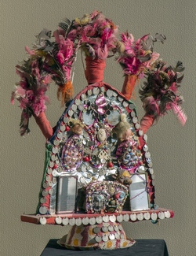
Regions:
<instances>
[{"instance_id":1,"label":"orange wrapped stem under the feather plume just right of centre","mask_svg":"<svg viewBox=\"0 0 196 256\"><path fill-rule=\"evenodd\" d=\"M136 82L139 81L136 75L125 75L125 81L122 87L122 94L125 96L127 100L132 97L132 92L136 85Z\"/></svg>"}]
</instances>

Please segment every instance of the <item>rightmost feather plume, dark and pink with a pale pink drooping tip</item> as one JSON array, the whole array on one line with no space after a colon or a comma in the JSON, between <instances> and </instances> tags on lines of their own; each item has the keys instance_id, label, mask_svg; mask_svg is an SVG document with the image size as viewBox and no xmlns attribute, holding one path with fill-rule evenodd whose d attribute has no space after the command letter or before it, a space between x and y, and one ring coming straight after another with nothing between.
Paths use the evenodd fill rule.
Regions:
<instances>
[{"instance_id":1,"label":"rightmost feather plume, dark and pink with a pale pink drooping tip","mask_svg":"<svg viewBox=\"0 0 196 256\"><path fill-rule=\"evenodd\" d=\"M153 116L154 120L158 120L158 117L162 117L172 109L181 124L185 124L187 121L181 108L183 97L178 91L183 80L183 75L180 76L183 70L183 64L180 61L174 68L166 65L164 61L158 60L147 72L147 81L140 89L140 98L146 114Z\"/></svg>"}]
</instances>

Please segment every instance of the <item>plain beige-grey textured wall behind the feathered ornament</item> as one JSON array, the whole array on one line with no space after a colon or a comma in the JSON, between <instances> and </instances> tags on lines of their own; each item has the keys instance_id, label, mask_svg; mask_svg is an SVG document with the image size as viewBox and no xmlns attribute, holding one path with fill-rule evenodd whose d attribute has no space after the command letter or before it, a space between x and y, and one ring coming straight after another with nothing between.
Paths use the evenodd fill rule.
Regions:
<instances>
[{"instance_id":1,"label":"plain beige-grey textured wall behind the feathered ornament","mask_svg":"<svg viewBox=\"0 0 196 256\"><path fill-rule=\"evenodd\" d=\"M60 238L69 227L42 226L20 221L20 214L34 213L45 160L45 138L34 120L31 134L19 135L20 108L9 102L14 84L19 80L15 65L25 58L24 46L32 46L34 35L42 28L56 29L64 17L74 19L98 9L129 30L136 39L142 35L163 33L167 40L156 43L154 50L164 61L186 67L180 89L185 98L187 124L181 127L169 113L154 125L148 135L148 146L155 171L156 203L175 211L173 219L151 224L151 221L125 226L128 237L135 239L165 239L169 255L195 255L195 12L194 0L165 1L1 1L1 239L0 254L40 255L49 239ZM109 59L105 81L121 90L122 70ZM75 94L85 87L82 61L78 54L74 76ZM56 100L56 87L49 91L51 104L47 116L52 125L63 109ZM140 99L136 99L142 117Z\"/></svg>"}]
</instances>

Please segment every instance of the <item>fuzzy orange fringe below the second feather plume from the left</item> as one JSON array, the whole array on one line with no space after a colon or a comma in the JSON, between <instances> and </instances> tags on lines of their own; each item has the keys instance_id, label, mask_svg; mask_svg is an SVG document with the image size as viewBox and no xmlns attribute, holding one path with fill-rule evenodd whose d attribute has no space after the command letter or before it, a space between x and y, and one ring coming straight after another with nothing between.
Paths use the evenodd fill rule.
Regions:
<instances>
[{"instance_id":1,"label":"fuzzy orange fringe below the second feather plume from the left","mask_svg":"<svg viewBox=\"0 0 196 256\"><path fill-rule=\"evenodd\" d=\"M57 91L57 98L61 101L61 106L64 106L66 102L68 102L72 96L74 95L74 87L71 83L71 80L64 83L63 86L59 86Z\"/></svg>"}]
</instances>

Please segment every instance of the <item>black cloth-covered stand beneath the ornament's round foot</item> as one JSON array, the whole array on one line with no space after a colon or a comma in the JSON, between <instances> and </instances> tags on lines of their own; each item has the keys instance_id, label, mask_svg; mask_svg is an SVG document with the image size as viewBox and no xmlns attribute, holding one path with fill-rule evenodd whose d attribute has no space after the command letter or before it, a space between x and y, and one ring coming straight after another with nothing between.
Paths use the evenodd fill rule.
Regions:
<instances>
[{"instance_id":1,"label":"black cloth-covered stand beneath the ornament's round foot","mask_svg":"<svg viewBox=\"0 0 196 256\"><path fill-rule=\"evenodd\" d=\"M60 247L58 239L50 239L40 256L169 256L167 246L162 239L135 239L129 248L116 250L67 250Z\"/></svg>"}]
</instances>

